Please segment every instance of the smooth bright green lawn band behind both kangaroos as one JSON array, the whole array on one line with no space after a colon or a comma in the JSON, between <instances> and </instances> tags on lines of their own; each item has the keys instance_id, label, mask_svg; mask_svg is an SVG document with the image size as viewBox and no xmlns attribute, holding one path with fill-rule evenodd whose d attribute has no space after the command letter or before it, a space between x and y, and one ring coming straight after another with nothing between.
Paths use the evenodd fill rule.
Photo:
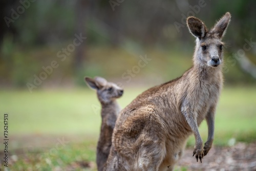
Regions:
<instances>
[{"instance_id":1,"label":"smooth bright green lawn band behind both kangaroos","mask_svg":"<svg viewBox=\"0 0 256 171\"><path fill-rule=\"evenodd\" d=\"M127 89L118 101L122 108L146 90ZM12 136L25 134L99 134L100 104L90 89L54 91L0 91L1 113L9 114ZM256 132L256 89L254 87L225 87L216 112L215 139L245 139L246 133ZM207 126L200 126L205 138ZM248 141L256 134L248 138ZM247 136L247 135L246 135ZM224 139L223 139L224 138ZM223 144L220 141L221 144Z\"/></svg>"}]
</instances>

